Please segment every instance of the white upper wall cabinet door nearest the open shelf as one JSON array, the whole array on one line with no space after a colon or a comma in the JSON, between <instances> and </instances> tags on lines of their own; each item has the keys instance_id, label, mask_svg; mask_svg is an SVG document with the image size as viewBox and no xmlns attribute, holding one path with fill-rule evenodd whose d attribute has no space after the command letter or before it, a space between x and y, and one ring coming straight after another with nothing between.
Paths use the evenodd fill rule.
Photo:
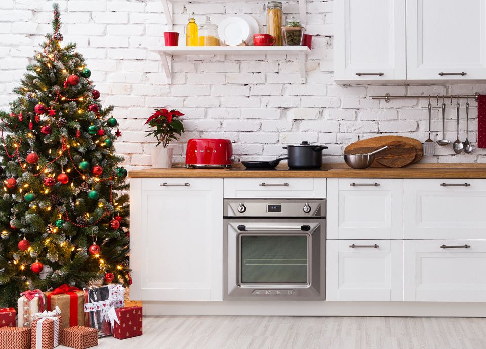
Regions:
<instances>
[{"instance_id":1,"label":"white upper wall cabinet door nearest the open shelf","mask_svg":"<svg viewBox=\"0 0 486 349\"><path fill-rule=\"evenodd\" d=\"M404 80L405 67L405 0L334 3L337 83Z\"/></svg>"}]
</instances>

